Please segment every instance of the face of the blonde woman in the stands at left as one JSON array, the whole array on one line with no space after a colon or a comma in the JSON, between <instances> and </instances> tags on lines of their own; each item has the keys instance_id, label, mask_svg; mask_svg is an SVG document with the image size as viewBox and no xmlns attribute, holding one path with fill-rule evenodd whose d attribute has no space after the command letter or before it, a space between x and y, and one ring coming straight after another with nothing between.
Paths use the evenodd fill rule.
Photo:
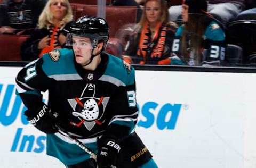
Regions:
<instances>
[{"instance_id":1,"label":"face of the blonde woman in the stands at left","mask_svg":"<svg viewBox=\"0 0 256 168\"><path fill-rule=\"evenodd\" d=\"M63 0L53 0L50 5L53 19L61 21L67 14L67 4Z\"/></svg>"}]
</instances>

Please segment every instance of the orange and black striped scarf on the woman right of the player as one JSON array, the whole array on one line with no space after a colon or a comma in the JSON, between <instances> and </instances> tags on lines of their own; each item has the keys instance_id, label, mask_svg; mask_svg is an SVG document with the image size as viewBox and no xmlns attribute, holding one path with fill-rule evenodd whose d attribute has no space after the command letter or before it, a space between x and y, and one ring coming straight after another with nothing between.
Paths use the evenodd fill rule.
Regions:
<instances>
[{"instance_id":1,"label":"orange and black striped scarf on the woman right of the player","mask_svg":"<svg viewBox=\"0 0 256 168\"><path fill-rule=\"evenodd\" d=\"M140 35L140 43L137 51L138 56L143 56L143 61L140 64L145 64L147 53L150 53L150 57L160 58L164 51L164 45L166 40L166 27L161 27L161 22L157 23L156 33L151 38L151 32L149 30L149 23L145 22L142 27Z\"/></svg>"}]
</instances>

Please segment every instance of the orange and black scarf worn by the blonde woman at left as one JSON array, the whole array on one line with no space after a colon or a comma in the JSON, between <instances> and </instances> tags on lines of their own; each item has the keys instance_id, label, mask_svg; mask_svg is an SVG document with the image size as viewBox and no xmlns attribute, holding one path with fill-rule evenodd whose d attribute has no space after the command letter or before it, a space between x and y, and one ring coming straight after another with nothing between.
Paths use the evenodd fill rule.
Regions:
<instances>
[{"instance_id":1,"label":"orange and black scarf worn by the blonde woman at left","mask_svg":"<svg viewBox=\"0 0 256 168\"><path fill-rule=\"evenodd\" d=\"M50 40L49 45L45 46L42 49L39 57L41 57L43 54L46 54L46 53L49 53L49 52L53 51L53 49L61 48L61 46L59 44L59 41L58 41L59 31L60 31L61 27L59 25L54 26L53 24L49 24L48 28L49 28L51 40Z\"/></svg>"}]
</instances>

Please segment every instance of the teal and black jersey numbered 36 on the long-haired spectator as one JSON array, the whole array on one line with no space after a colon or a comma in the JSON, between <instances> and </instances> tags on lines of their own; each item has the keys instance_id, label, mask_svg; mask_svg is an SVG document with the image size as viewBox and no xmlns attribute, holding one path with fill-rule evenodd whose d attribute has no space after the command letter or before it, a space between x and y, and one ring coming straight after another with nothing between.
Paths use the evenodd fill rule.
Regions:
<instances>
[{"instance_id":1,"label":"teal and black jersey numbered 36 on the long-haired spectator","mask_svg":"<svg viewBox=\"0 0 256 168\"><path fill-rule=\"evenodd\" d=\"M171 65L194 65L193 59L191 57L192 48L190 48L191 41L186 41L187 43L187 55L181 54L181 37L183 33L183 25L179 27L175 33L175 39L173 40L171 57ZM214 21L206 27L204 35L202 38L202 55L201 55L201 65L220 65L220 63L225 59L225 32L222 28Z\"/></svg>"}]
</instances>

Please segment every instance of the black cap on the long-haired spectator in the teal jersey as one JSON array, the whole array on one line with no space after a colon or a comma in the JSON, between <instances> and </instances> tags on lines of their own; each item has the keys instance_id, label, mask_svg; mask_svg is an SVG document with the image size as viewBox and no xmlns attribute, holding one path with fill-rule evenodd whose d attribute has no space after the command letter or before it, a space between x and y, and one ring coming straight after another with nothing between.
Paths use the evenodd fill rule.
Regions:
<instances>
[{"instance_id":1,"label":"black cap on the long-haired spectator in the teal jersey","mask_svg":"<svg viewBox=\"0 0 256 168\"><path fill-rule=\"evenodd\" d=\"M185 0L184 4L188 5L188 13L206 13L208 4L206 0Z\"/></svg>"}]
</instances>

